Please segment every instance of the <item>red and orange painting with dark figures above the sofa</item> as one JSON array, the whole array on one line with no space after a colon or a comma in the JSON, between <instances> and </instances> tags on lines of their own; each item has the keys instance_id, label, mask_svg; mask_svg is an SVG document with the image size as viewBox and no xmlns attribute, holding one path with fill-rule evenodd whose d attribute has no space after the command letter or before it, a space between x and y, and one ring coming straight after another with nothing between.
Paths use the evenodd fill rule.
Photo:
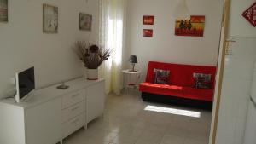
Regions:
<instances>
[{"instance_id":1,"label":"red and orange painting with dark figures above the sofa","mask_svg":"<svg viewBox=\"0 0 256 144\"><path fill-rule=\"evenodd\" d=\"M205 16L191 15L190 20L176 20L175 35L203 37L205 28Z\"/></svg>"}]
</instances>

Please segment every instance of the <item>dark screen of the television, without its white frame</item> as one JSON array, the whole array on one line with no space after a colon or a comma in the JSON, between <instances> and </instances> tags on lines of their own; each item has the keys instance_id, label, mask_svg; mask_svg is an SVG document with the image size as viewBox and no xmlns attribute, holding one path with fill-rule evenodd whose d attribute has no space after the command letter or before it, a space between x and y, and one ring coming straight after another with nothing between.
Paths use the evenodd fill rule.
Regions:
<instances>
[{"instance_id":1,"label":"dark screen of the television, without its white frame","mask_svg":"<svg viewBox=\"0 0 256 144\"><path fill-rule=\"evenodd\" d=\"M35 89L34 67L18 73L20 100Z\"/></svg>"}]
</instances>

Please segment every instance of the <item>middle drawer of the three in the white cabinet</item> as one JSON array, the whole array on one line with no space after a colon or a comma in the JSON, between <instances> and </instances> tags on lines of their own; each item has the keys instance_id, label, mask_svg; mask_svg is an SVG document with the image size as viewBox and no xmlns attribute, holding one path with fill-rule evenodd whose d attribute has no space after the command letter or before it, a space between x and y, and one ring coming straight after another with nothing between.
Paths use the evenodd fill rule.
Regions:
<instances>
[{"instance_id":1,"label":"middle drawer of the three in the white cabinet","mask_svg":"<svg viewBox=\"0 0 256 144\"><path fill-rule=\"evenodd\" d=\"M62 110L62 123L85 112L85 101Z\"/></svg>"}]
</instances>

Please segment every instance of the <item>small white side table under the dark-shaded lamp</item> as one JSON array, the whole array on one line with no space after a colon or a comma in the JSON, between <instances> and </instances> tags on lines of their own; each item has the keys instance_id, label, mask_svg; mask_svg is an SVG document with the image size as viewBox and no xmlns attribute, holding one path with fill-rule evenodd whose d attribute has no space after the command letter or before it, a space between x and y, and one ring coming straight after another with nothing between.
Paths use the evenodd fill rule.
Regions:
<instances>
[{"instance_id":1,"label":"small white side table under the dark-shaded lamp","mask_svg":"<svg viewBox=\"0 0 256 144\"><path fill-rule=\"evenodd\" d=\"M139 79L141 78L141 71L131 72L131 70L123 70L125 94L129 87L134 89L137 87Z\"/></svg>"}]
</instances>

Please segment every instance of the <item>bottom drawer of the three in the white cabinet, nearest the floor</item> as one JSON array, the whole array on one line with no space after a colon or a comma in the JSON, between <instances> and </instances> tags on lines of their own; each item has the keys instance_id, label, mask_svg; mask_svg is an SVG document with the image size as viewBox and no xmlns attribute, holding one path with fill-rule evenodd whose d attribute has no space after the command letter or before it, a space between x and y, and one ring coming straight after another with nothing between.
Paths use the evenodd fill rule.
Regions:
<instances>
[{"instance_id":1,"label":"bottom drawer of the three in the white cabinet, nearest the floor","mask_svg":"<svg viewBox=\"0 0 256 144\"><path fill-rule=\"evenodd\" d=\"M63 138L67 137L68 135L71 135L76 130L79 130L84 126L84 124L85 124L85 112L76 118L72 118L67 123L63 123L62 125Z\"/></svg>"}]
</instances>

